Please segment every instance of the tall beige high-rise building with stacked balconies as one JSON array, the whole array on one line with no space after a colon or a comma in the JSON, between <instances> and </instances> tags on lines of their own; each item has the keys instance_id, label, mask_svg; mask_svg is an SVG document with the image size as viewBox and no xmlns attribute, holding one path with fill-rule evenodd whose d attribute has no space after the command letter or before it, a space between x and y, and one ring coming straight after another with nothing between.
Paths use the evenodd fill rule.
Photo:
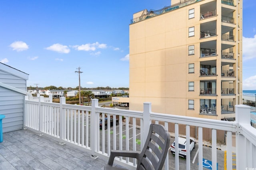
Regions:
<instances>
[{"instance_id":1,"label":"tall beige high-rise building with stacked balconies","mask_svg":"<svg viewBox=\"0 0 256 170\"><path fill-rule=\"evenodd\" d=\"M154 7L152 7L154 8ZM242 0L172 0L130 24L130 109L228 119L242 103Z\"/></svg>"}]
</instances>

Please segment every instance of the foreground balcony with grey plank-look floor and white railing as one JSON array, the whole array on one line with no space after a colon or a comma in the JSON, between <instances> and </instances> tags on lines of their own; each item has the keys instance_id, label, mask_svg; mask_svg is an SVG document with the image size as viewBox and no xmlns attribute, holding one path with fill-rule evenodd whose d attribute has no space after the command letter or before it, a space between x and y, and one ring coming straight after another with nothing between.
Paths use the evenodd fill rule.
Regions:
<instances>
[{"instance_id":1,"label":"foreground balcony with grey plank-look floor and white railing","mask_svg":"<svg viewBox=\"0 0 256 170\"><path fill-rule=\"evenodd\" d=\"M207 159L215 170L232 170L232 164L237 165L236 169L255 166L256 129L250 125L248 106L236 106L236 121L154 113L148 102L144 103L144 111L99 107L97 99L92 100L92 106L78 106L65 104L65 98L60 98L57 104L44 102L40 97L37 102L25 100L24 106L27 130L4 133L4 141L0 143L3 169L103 169L111 149L140 151L151 123L164 125L170 137L177 137L170 138L171 143L174 140L178 143L178 135L196 139L196 149L191 154L190 145L187 146L186 160L179 159L178 154L174 159L169 152L166 170L179 169L180 164L187 170L203 169L203 155L208 152L212 154ZM202 114L214 115L214 107ZM106 130L100 129L100 117L108 118ZM110 117L114 122L118 119L119 124L110 126ZM233 138L237 139L236 148L232 148ZM211 147L203 146L206 140ZM194 157L196 150L198 155ZM223 162L224 154L225 164L219 162ZM236 155L236 160L232 160L232 155ZM192 164L193 159L198 163ZM115 165L135 170L136 160L117 157Z\"/></svg>"}]
</instances>

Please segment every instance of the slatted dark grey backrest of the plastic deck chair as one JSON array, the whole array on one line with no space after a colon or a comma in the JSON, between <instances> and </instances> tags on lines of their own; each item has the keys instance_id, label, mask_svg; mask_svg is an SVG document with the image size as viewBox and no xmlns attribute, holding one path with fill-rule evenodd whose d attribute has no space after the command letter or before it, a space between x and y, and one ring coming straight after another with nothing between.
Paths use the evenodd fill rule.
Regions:
<instances>
[{"instance_id":1,"label":"slatted dark grey backrest of the plastic deck chair","mask_svg":"<svg viewBox=\"0 0 256 170\"><path fill-rule=\"evenodd\" d=\"M161 170L170 145L170 134L162 125L151 124L137 170Z\"/></svg>"}]
</instances>

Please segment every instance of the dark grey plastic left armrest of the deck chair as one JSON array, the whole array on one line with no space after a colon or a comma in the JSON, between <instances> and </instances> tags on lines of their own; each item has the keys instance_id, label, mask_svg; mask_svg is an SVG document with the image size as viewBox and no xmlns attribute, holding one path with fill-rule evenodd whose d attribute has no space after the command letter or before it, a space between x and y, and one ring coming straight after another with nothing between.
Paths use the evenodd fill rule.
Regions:
<instances>
[{"instance_id":1,"label":"dark grey plastic left armrest of the deck chair","mask_svg":"<svg viewBox=\"0 0 256 170\"><path fill-rule=\"evenodd\" d=\"M131 150L111 150L110 151L110 156L108 160L108 165L113 165L114 158L116 156L124 156L124 157L129 157L129 158L137 158L140 155L140 152L138 151L131 151Z\"/></svg>"}]
</instances>

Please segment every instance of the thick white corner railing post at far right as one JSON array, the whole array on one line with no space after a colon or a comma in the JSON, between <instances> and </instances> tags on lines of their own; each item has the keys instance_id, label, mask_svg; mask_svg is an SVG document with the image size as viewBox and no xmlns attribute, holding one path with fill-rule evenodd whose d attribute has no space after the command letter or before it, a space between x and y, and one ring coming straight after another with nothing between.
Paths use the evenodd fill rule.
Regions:
<instances>
[{"instance_id":1,"label":"thick white corner railing post at far right","mask_svg":"<svg viewBox=\"0 0 256 170\"><path fill-rule=\"evenodd\" d=\"M250 124L250 107L245 105L236 105L236 169L246 169L246 138L241 134L241 126Z\"/></svg>"}]
</instances>

